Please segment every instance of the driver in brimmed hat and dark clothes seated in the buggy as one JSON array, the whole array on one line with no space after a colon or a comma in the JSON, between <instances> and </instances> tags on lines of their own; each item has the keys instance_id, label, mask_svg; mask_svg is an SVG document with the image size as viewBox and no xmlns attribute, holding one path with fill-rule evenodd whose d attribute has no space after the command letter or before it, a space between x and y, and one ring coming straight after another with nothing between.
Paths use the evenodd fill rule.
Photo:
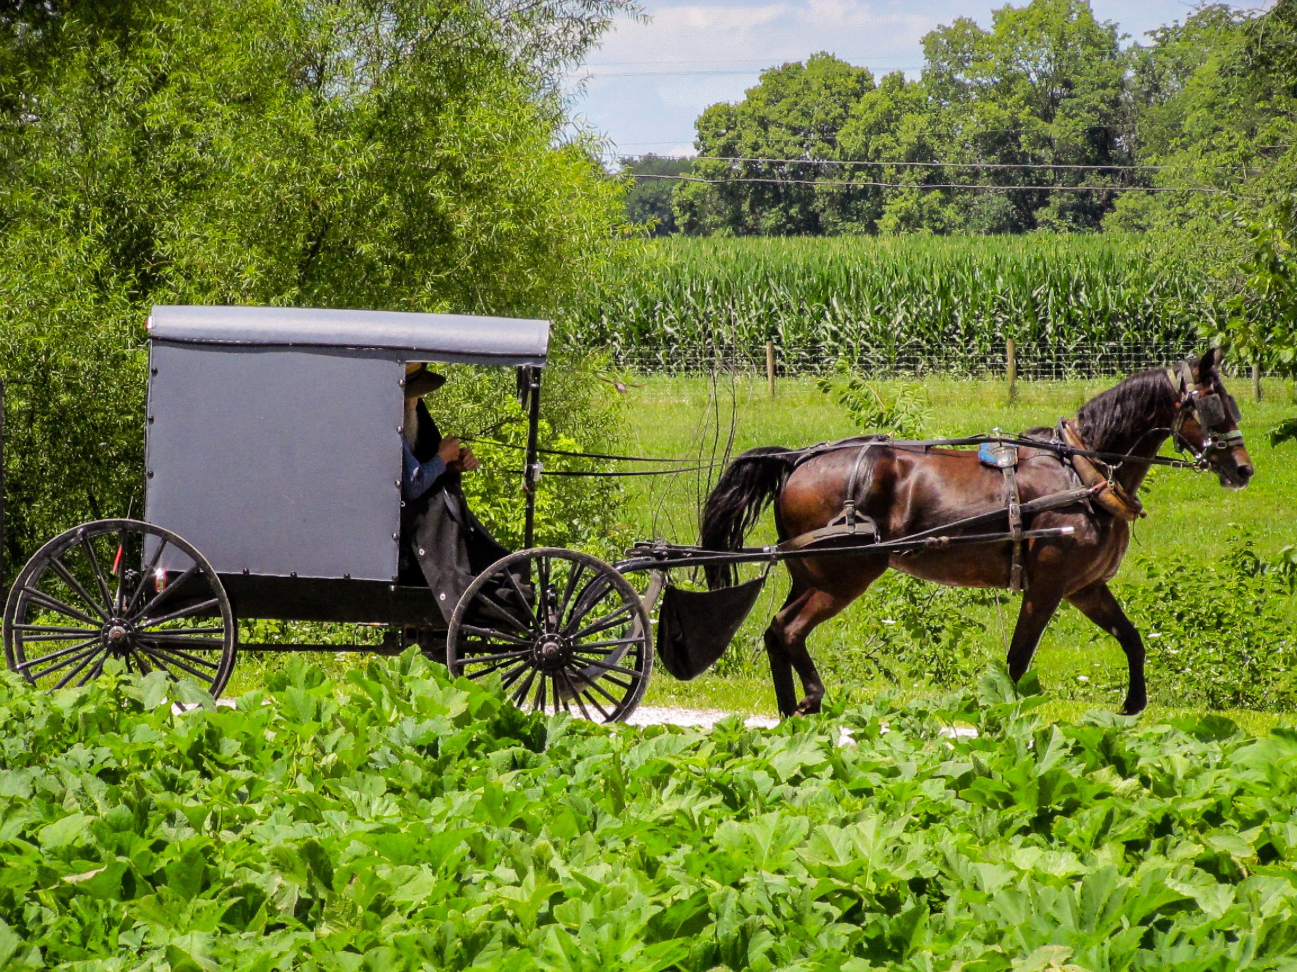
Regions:
<instances>
[{"instance_id":1,"label":"driver in brimmed hat and dark clothes seated in the buggy","mask_svg":"<svg viewBox=\"0 0 1297 972\"><path fill-rule=\"evenodd\" d=\"M460 476L481 463L454 435L442 437L424 395L446 384L423 364L406 365L401 476L401 579L427 581L446 623L473 577L508 553L464 502Z\"/></svg>"}]
</instances>

